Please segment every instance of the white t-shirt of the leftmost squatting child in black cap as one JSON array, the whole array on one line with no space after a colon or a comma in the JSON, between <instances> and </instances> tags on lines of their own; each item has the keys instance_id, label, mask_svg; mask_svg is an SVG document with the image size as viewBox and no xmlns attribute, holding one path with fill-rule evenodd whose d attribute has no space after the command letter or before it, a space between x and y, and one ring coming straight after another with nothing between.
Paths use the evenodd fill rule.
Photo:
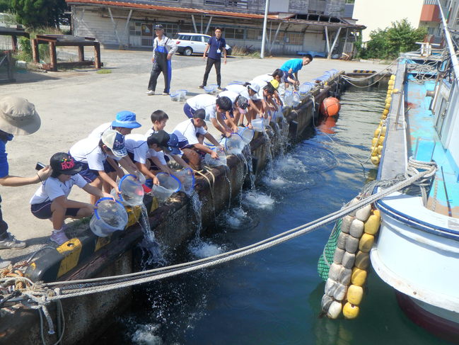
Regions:
<instances>
[{"instance_id":1,"label":"white t-shirt of the leftmost squatting child in black cap","mask_svg":"<svg viewBox=\"0 0 459 345\"><path fill-rule=\"evenodd\" d=\"M79 186L83 188L88 184L88 182L81 177L80 174L71 176L69 181L61 182L59 179L50 177L37 189L35 194L30 199L30 204L34 205L37 203L45 203L45 201L52 201L59 196L69 196L71 187Z\"/></svg>"}]
</instances>

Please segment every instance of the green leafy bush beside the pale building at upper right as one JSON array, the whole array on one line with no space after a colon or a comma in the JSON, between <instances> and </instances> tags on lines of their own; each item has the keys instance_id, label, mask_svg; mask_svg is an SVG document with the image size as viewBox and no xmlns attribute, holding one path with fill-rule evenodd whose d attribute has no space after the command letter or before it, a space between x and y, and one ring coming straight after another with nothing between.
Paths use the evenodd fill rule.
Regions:
<instances>
[{"instance_id":1,"label":"green leafy bush beside the pale building at upper right","mask_svg":"<svg viewBox=\"0 0 459 345\"><path fill-rule=\"evenodd\" d=\"M422 41L426 35L426 28L414 29L407 18L392 23L384 30L373 30L366 48L359 56L376 59L390 59L400 55L400 52L417 50L416 42Z\"/></svg>"}]
</instances>

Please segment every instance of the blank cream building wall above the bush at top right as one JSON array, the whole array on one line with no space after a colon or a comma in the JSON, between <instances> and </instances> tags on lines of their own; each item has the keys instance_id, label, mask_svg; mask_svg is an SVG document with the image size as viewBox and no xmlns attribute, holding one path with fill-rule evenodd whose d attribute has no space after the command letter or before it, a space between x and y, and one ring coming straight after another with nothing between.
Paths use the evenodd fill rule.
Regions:
<instances>
[{"instance_id":1,"label":"blank cream building wall above the bush at top right","mask_svg":"<svg viewBox=\"0 0 459 345\"><path fill-rule=\"evenodd\" d=\"M407 18L414 27L419 27L423 0L356 0L354 18L357 24L366 26L362 31L364 42L370 39L372 30L385 29L392 22Z\"/></svg>"}]
</instances>

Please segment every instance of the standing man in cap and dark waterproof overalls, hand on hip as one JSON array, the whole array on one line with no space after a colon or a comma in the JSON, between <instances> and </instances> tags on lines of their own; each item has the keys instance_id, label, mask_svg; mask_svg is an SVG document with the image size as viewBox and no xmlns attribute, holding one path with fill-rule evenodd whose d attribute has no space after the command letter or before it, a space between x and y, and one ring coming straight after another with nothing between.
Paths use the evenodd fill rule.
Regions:
<instances>
[{"instance_id":1,"label":"standing man in cap and dark waterproof overalls, hand on hip","mask_svg":"<svg viewBox=\"0 0 459 345\"><path fill-rule=\"evenodd\" d=\"M177 51L177 45L173 40L164 35L164 28L161 24L155 26L156 38L153 40L153 69L151 69L149 91L146 94L152 96L155 94L156 81L159 74L163 72L164 91L163 96L167 96L170 91L170 79L172 78L172 65L170 59Z\"/></svg>"}]
</instances>

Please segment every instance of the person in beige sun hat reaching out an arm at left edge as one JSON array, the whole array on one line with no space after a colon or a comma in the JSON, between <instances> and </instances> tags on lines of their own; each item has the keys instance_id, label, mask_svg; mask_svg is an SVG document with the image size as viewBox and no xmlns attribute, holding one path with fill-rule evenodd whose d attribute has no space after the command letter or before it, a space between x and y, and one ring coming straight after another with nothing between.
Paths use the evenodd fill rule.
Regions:
<instances>
[{"instance_id":1,"label":"person in beige sun hat reaching out an arm at left edge","mask_svg":"<svg viewBox=\"0 0 459 345\"><path fill-rule=\"evenodd\" d=\"M6 143L13 140L13 135L30 135L40 128L40 116L35 106L24 98L6 96L0 98L0 185L8 187L26 186L45 181L51 174L50 166L37 171L35 176L11 176L8 169ZM0 198L1 202L1 198ZM15 239L3 220L0 209L0 249L25 248L25 242ZM9 264L0 260L0 267Z\"/></svg>"}]
</instances>

